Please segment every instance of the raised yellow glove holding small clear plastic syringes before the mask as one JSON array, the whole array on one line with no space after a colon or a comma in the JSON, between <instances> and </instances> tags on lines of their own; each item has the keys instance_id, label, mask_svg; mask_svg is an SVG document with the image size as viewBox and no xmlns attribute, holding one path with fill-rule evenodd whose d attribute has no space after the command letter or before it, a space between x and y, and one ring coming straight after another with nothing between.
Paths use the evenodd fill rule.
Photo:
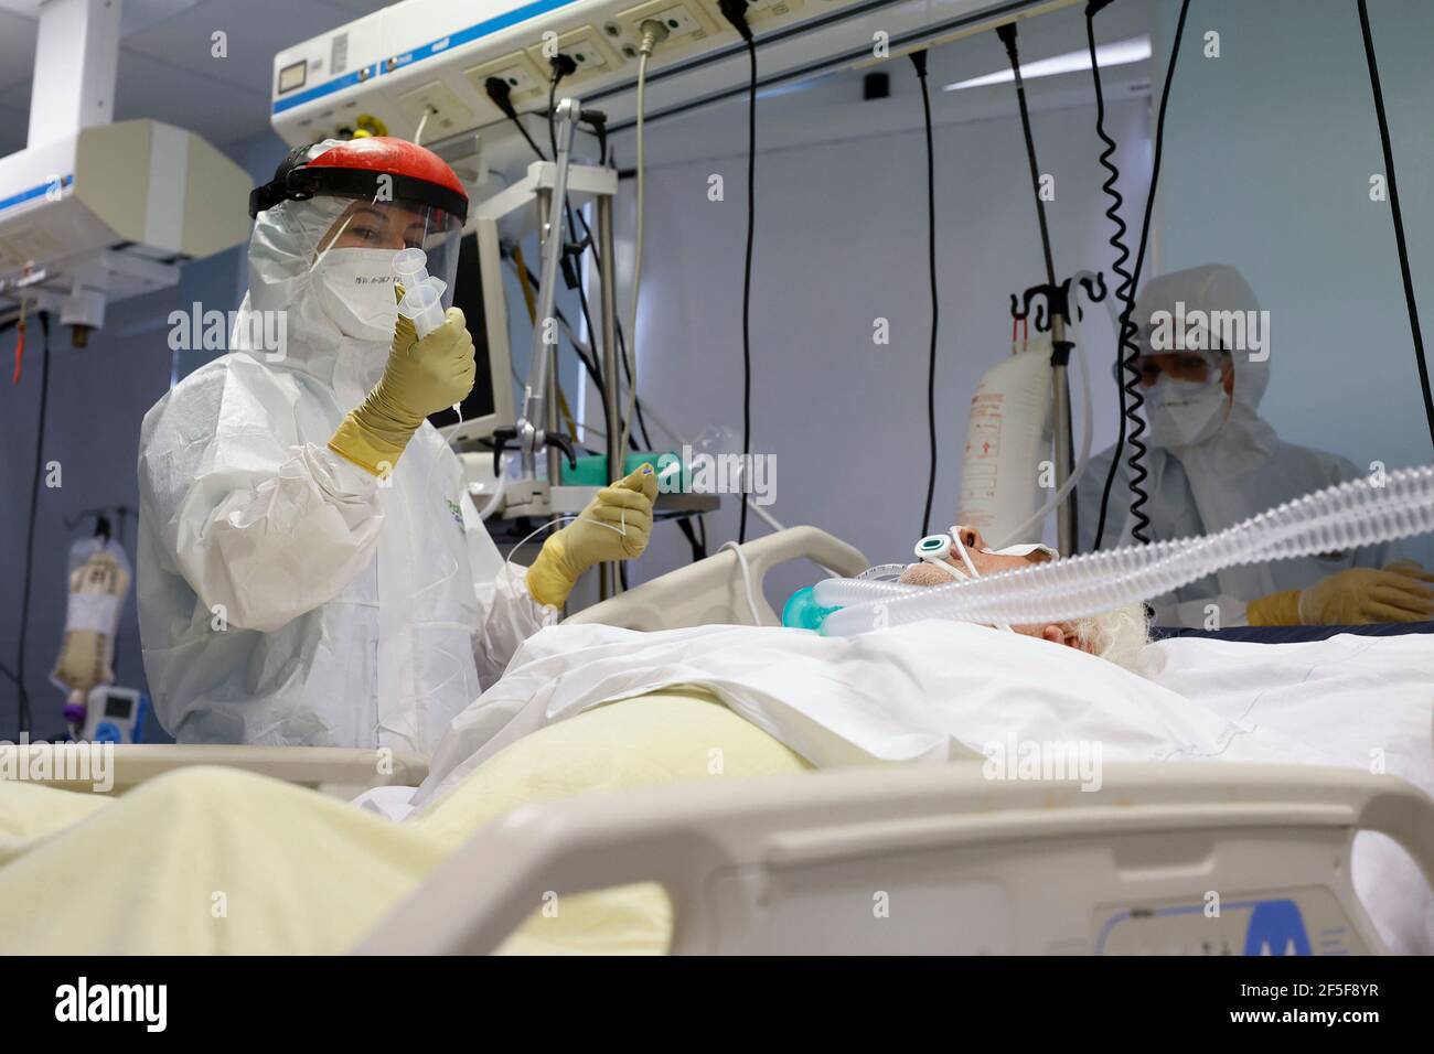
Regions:
<instances>
[{"instance_id":1,"label":"raised yellow glove holding small clear plastic syringes before the mask","mask_svg":"<svg viewBox=\"0 0 1434 1054\"><path fill-rule=\"evenodd\" d=\"M403 295L402 288L396 293ZM376 476L387 475L424 417L463 402L476 371L473 338L459 308L450 307L443 324L423 340L399 315L383 377L363 406L344 417L328 449Z\"/></svg>"}]
</instances>

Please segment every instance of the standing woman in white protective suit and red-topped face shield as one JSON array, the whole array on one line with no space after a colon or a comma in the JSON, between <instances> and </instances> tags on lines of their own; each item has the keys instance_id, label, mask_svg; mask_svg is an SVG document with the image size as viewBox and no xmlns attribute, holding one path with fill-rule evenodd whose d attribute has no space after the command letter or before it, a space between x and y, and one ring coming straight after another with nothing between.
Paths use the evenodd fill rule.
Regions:
<instances>
[{"instance_id":1,"label":"standing woman in white protective suit and red-topped face shield","mask_svg":"<svg viewBox=\"0 0 1434 1054\"><path fill-rule=\"evenodd\" d=\"M234 350L141 433L151 695L179 741L427 751L578 575L642 552L655 476L601 490L532 568L505 565L426 420L472 387L463 314L419 340L396 307L406 247L452 290L457 176L399 139L327 141L250 211Z\"/></svg>"}]
</instances>

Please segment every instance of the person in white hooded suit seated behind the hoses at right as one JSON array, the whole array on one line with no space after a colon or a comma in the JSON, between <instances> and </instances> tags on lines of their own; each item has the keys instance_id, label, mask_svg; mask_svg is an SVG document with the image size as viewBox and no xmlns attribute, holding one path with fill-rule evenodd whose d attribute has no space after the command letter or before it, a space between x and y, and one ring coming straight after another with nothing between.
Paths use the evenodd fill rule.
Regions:
<instances>
[{"instance_id":1,"label":"person in white hooded suit seated behind the hoses at right","mask_svg":"<svg viewBox=\"0 0 1434 1054\"><path fill-rule=\"evenodd\" d=\"M1230 327L1239 313L1240 326ZM1311 490L1362 473L1338 455L1286 443L1256 407L1269 381L1269 334L1253 351L1259 304L1228 264L1153 278L1136 298L1144 397L1143 488L1150 541L1213 533ZM1180 320L1186 330L1176 336ZM1222 337L1245 334L1243 347ZM1288 351L1285 354L1289 354ZM1124 374L1123 374L1124 376ZM1127 457L1111 488L1103 548L1129 545ZM1114 447L1090 459L1078 483L1080 546L1096 545L1100 499ZM1152 602L1157 625L1355 625L1434 618L1434 576L1412 561L1388 564L1365 546L1304 559L1226 568ZM1215 605L1212 608L1212 605Z\"/></svg>"}]
</instances>

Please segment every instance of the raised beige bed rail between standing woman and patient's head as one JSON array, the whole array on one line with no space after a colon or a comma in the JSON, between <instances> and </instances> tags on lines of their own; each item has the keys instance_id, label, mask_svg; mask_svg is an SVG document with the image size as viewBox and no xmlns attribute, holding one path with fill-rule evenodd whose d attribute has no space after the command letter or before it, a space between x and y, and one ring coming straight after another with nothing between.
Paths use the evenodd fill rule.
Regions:
<instances>
[{"instance_id":1,"label":"raised beige bed rail between standing woman and patient's head","mask_svg":"<svg viewBox=\"0 0 1434 1054\"><path fill-rule=\"evenodd\" d=\"M751 575L751 591L761 625L782 625L763 597L761 584L771 568L793 559L810 559L839 575L856 575L870 566L860 551L815 526L796 526L741 546ZM751 625L751 608L741 565L731 549L642 582L611 599L594 604L566 619L585 625L627 630L680 630L695 625Z\"/></svg>"}]
</instances>

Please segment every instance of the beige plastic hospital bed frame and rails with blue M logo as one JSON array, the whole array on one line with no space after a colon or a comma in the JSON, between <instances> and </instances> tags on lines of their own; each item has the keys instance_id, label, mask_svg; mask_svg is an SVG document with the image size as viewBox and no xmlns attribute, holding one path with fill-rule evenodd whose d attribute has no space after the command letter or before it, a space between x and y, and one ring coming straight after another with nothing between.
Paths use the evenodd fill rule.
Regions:
<instances>
[{"instance_id":1,"label":"beige plastic hospital bed frame and rails with blue M logo","mask_svg":"<svg viewBox=\"0 0 1434 1054\"><path fill-rule=\"evenodd\" d=\"M763 578L803 558L868 566L794 528L568 621L776 625ZM199 763L330 793L426 773L413 756L380 773L369 750L133 747L116 751L116 790ZM1434 885L1434 800L1351 769L1107 764L1083 792L958 761L595 793L488 825L358 951L492 951L546 895L657 882L678 954L1381 952L1351 878L1361 830L1395 839Z\"/></svg>"}]
</instances>

